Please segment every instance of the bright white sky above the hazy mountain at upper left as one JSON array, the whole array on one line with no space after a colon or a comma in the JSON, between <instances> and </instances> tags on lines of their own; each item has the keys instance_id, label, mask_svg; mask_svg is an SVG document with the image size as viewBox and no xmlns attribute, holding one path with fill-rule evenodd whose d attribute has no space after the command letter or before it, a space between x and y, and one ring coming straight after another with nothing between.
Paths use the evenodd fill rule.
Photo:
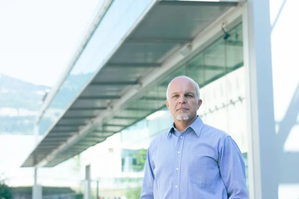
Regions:
<instances>
[{"instance_id":1,"label":"bright white sky above the hazy mountain at upper left","mask_svg":"<svg viewBox=\"0 0 299 199\"><path fill-rule=\"evenodd\" d=\"M0 74L54 86L103 0L0 0Z\"/></svg>"}]
</instances>

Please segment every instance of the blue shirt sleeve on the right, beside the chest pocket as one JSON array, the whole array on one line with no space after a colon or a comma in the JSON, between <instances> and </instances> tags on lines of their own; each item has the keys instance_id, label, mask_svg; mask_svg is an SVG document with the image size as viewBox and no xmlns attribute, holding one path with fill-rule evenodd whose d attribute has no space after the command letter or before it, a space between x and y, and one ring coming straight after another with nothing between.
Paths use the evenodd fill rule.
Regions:
<instances>
[{"instance_id":1,"label":"blue shirt sleeve on the right, beside the chest pocket","mask_svg":"<svg viewBox=\"0 0 299 199\"><path fill-rule=\"evenodd\" d=\"M228 199L248 199L244 159L231 136L223 142L218 165Z\"/></svg>"}]
</instances>

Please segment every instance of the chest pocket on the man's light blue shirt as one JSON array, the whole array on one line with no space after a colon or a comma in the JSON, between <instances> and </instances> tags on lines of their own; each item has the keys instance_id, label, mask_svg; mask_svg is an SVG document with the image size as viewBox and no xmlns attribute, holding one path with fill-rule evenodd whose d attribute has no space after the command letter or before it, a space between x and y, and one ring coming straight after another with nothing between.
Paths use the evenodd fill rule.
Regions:
<instances>
[{"instance_id":1,"label":"chest pocket on the man's light blue shirt","mask_svg":"<svg viewBox=\"0 0 299 199\"><path fill-rule=\"evenodd\" d=\"M199 185L213 185L215 180L216 161L208 156L191 156L189 164L189 179Z\"/></svg>"}]
</instances>

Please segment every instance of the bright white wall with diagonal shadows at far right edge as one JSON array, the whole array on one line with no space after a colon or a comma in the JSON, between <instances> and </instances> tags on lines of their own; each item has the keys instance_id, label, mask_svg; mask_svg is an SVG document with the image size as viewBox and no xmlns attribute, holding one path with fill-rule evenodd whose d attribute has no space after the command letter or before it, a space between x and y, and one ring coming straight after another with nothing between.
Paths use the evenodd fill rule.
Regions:
<instances>
[{"instance_id":1,"label":"bright white wall with diagonal shadows at far right edge","mask_svg":"<svg viewBox=\"0 0 299 199\"><path fill-rule=\"evenodd\" d=\"M299 0L270 0L270 19L278 192L280 199L298 199Z\"/></svg>"}]
</instances>

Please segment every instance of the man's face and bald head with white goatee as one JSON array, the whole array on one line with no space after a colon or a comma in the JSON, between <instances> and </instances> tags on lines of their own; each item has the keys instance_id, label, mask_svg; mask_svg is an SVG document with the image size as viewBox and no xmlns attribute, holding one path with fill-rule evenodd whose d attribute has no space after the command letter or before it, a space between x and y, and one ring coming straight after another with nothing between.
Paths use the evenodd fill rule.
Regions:
<instances>
[{"instance_id":1,"label":"man's face and bald head with white goatee","mask_svg":"<svg viewBox=\"0 0 299 199\"><path fill-rule=\"evenodd\" d=\"M201 103L202 100L197 99L195 85L190 80L180 77L170 83L166 105L174 119L193 119Z\"/></svg>"}]
</instances>

